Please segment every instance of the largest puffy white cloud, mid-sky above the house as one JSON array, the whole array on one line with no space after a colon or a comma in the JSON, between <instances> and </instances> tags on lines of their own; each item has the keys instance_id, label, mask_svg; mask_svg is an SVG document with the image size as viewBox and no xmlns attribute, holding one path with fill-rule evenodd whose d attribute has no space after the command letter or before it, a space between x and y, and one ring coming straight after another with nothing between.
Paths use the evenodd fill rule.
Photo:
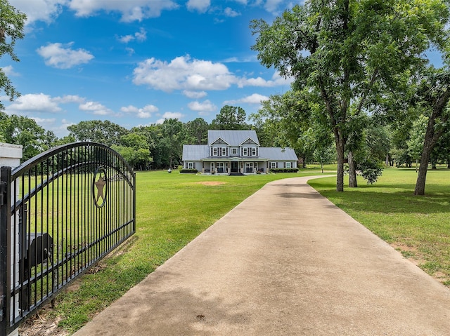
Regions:
<instances>
[{"instance_id":1,"label":"largest puffy white cloud, mid-sky above the house","mask_svg":"<svg viewBox=\"0 0 450 336\"><path fill-rule=\"evenodd\" d=\"M221 63L191 60L186 56L170 62L150 58L134 69L133 83L147 85L156 90L226 90L237 83L236 76Z\"/></svg>"}]
</instances>

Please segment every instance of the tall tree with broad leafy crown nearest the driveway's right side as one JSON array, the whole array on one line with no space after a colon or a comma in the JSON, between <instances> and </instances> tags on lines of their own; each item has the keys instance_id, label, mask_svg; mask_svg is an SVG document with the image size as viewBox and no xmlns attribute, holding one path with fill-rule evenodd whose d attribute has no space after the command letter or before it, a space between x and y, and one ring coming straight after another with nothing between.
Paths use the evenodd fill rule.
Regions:
<instances>
[{"instance_id":1,"label":"tall tree with broad leafy crown nearest the driveway's right side","mask_svg":"<svg viewBox=\"0 0 450 336\"><path fill-rule=\"evenodd\" d=\"M344 190L349 121L369 98L399 86L399 74L422 61L448 15L439 0L310 0L273 25L252 21L252 50L262 65L293 76L297 90L321 100L336 146L338 191Z\"/></svg>"}]
</instances>

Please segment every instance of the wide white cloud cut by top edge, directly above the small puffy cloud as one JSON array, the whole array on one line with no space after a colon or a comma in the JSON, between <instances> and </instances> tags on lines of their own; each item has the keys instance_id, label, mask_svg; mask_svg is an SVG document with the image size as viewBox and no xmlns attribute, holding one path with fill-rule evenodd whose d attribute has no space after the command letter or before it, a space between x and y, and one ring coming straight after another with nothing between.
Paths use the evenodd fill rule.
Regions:
<instances>
[{"instance_id":1,"label":"wide white cloud cut by top edge, directly above the small puffy cloud","mask_svg":"<svg viewBox=\"0 0 450 336\"><path fill-rule=\"evenodd\" d=\"M122 21L141 21L146 18L157 18L162 11L178 8L172 0L71 0L70 9L77 16L91 16L98 11L120 12Z\"/></svg>"}]
</instances>

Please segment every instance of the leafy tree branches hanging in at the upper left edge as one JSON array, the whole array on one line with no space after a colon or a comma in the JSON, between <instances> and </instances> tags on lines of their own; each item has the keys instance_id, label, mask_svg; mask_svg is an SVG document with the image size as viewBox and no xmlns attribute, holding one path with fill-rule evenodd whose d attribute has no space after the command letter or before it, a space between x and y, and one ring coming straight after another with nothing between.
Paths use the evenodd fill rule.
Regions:
<instances>
[{"instance_id":1,"label":"leafy tree branches hanging in at the upper left edge","mask_svg":"<svg viewBox=\"0 0 450 336\"><path fill-rule=\"evenodd\" d=\"M0 0L0 57L8 54L13 61L19 62L14 53L14 46L15 41L23 39L25 36L23 34L25 20L27 20L27 15L8 4L8 1ZM1 68L0 90L4 90L10 100L14 100L20 95ZM0 111L3 109L4 105L0 102Z\"/></svg>"}]
</instances>

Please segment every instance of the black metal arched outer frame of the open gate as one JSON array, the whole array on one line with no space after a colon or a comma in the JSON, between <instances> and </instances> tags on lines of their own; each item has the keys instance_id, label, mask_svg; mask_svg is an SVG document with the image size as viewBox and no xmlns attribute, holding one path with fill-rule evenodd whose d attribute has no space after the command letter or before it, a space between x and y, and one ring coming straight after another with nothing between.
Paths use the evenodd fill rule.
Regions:
<instances>
[{"instance_id":1,"label":"black metal arched outer frame of the open gate","mask_svg":"<svg viewBox=\"0 0 450 336\"><path fill-rule=\"evenodd\" d=\"M11 274L13 271L13 265L11 264L11 260L15 260L15 257L13 257L13 253L15 253L15 247L12 246L12 238L11 238L11 217L13 215L13 205L11 198L14 197L14 202L18 203L16 200L16 195L11 195L13 191L12 184L15 183L15 180L13 180L13 176L17 175L18 173L22 171L31 170L34 167L37 167L41 162L44 162L47 159L52 158L53 156L56 156L58 158L58 154L63 153L65 151L68 151L69 149L76 149L78 147L86 147L85 150L90 150L91 147L98 148L100 151L105 151L106 156L108 159L117 159L120 161L120 164L123 165L124 170L122 173L122 170L117 170L117 168L113 166L107 166L108 168L112 168L117 170L122 176L126 176L129 174L129 179L126 178L127 183L129 185L130 191L132 193L131 199L129 200L131 202L131 218L127 222L131 224L130 228L131 231L127 235L125 235L124 238L120 238L120 241L115 243L113 246L110 246L107 250L101 253L101 255L96 255L91 261L90 264L88 264L86 267L82 267L79 269L77 274L75 276L70 276L70 278L65 279L65 283L59 285L57 284L56 290L53 288L50 293L46 293L46 298L44 300L40 300L39 304L34 304L33 309L27 309L26 314L21 314L23 316L16 316L15 314L11 314L11 300L15 300L15 295L11 295L11 293L14 293L13 288L11 287L11 278L14 277L14 281L16 281L15 275ZM82 151L82 149L80 149ZM83 152L82 152L83 153ZM94 152L89 152L88 154L92 154ZM86 152L84 152L86 154ZM109 154L112 156L110 157ZM97 160L97 158L96 158ZM86 161L83 162L84 165L89 164L95 164L98 163L98 161ZM113 160L111 160L113 161ZM108 161L109 162L109 161ZM77 166L77 164L75 164ZM52 172L51 179L41 181L41 184L39 184L40 192L44 189L44 184L49 184L50 182L53 182L53 180L58 180L60 176L63 176L67 170L72 169L75 167L71 161L70 165L68 167L63 167L60 169L59 164L56 167L56 173ZM122 167L122 166L121 166ZM53 167L54 168L54 167ZM136 173L134 172L133 168L129 166L127 161L117 152L115 152L113 149L111 149L108 146L105 146L103 144L98 144L96 142L73 142L66 145L60 145L58 147L54 147L52 149L49 149L45 152L42 152L41 154L38 154L37 156L34 156L34 158L29 159L22 163L17 168L12 169L8 166L3 166L1 169L1 178L0 178L0 336L8 335L8 332L13 332L17 330L18 326L25 321L26 318L34 315L39 307L41 307L44 302L47 302L52 297L54 297L56 294L60 293L60 290L65 288L69 283L72 283L76 278L79 278L82 274L84 274L86 271L88 271L91 267L93 267L99 260L103 259L106 255L111 253L117 246L120 246L124 241L126 241L130 236L136 233ZM48 169L48 168L47 168ZM125 170L126 169L126 170ZM79 170L78 170L79 173ZM85 173L85 172L84 172ZM21 175L18 175L18 177ZM43 175L44 176L44 175ZM49 176L47 174L47 176ZM67 187L67 186L66 186ZM94 185L91 186L94 188ZM34 196L37 195L37 192L39 191L28 191L27 197L32 194L33 192L36 193ZM34 197L31 196L31 197ZM94 195L93 195L94 196ZM30 197L30 199L31 199ZM25 195L22 195L22 201L25 199ZM30 200L29 199L29 200ZM103 203L105 202L105 199L103 199ZM98 206L96 203L94 203L95 206ZM54 209L53 209L54 210ZM66 228L67 229L67 228ZM17 242L19 243L21 238L18 238ZM15 241L15 238L14 238ZM18 260L17 260L18 261ZM59 261L57 260L57 263ZM52 266L53 269L53 266ZM52 270L53 271L53 270ZM56 271L58 271L58 267L56 267ZM30 277L29 277L30 279ZM20 286L23 286L23 284L20 284ZM12 291L11 291L12 290ZM16 307L17 309L17 307ZM12 317L15 316L14 321L12 321Z\"/></svg>"}]
</instances>

